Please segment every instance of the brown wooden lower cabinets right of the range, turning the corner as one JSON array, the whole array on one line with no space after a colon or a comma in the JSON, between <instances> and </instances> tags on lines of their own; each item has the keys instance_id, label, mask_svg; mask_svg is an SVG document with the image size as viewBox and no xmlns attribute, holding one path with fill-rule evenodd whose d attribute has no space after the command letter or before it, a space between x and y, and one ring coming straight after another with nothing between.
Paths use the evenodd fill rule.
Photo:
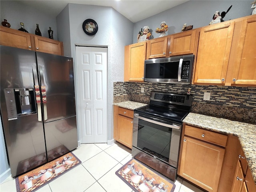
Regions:
<instances>
[{"instance_id":1,"label":"brown wooden lower cabinets right of the range, turning the corner","mask_svg":"<svg viewBox=\"0 0 256 192\"><path fill-rule=\"evenodd\" d=\"M186 124L178 175L209 192L256 192L238 137Z\"/></svg>"}]
</instances>

